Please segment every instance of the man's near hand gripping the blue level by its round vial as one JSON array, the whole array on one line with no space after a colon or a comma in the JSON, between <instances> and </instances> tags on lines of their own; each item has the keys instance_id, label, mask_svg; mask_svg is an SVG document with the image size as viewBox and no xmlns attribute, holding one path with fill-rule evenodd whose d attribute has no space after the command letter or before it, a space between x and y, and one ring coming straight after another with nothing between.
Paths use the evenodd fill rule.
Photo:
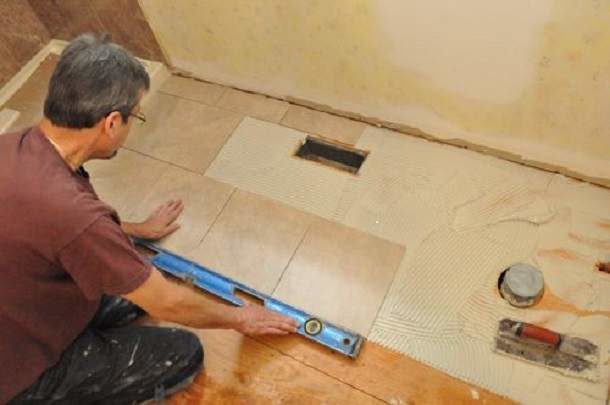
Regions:
<instances>
[{"instance_id":1,"label":"man's near hand gripping the blue level by its round vial","mask_svg":"<svg viewBox=\"0 0 610 405\"><path fill-rule=\"evenodd\" d=\"M294 319L259 305L246 303L237 311L238 322L234 329L244 335L287 335L296 332L299 326Z\"/></svg>"}]
</instances>

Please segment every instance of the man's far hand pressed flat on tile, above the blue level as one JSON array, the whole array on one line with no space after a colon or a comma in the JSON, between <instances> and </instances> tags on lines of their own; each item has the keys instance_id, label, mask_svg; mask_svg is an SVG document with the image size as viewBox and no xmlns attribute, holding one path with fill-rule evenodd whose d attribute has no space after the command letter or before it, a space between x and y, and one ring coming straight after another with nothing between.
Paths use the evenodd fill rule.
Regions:
<instances>
[{"instance_id":1,"label":"man's far hand pressed flat on tile, above the blue level","mask_svg":"<svg viewBox=\"0 0 610 405\"><path fill-rule=\"evenodd\" d=\"M161 239L180 227L176 219L178 219L183 209L184 205L181 200L167 201L150 214L144 222L137 224L123 223L123 231L136 238Z\"/></svg>"}]
</instances>

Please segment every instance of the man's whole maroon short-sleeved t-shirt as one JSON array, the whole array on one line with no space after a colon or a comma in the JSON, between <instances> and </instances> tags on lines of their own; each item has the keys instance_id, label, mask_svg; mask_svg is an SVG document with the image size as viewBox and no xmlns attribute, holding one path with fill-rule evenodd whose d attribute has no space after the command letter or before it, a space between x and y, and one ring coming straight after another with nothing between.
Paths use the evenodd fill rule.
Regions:
<instances>
[{"instance_id":1,"label":"man's whole maroon short-sleeved t-shirt","mask_svg":"<svg viewBox=\"0 0 610 405\"><path fill-rule=\"evenodd\" d=\"M149 274L116 212L38 127L0 135L0 403L57 362L103 294Z\"/></svg>"}]
</instances>

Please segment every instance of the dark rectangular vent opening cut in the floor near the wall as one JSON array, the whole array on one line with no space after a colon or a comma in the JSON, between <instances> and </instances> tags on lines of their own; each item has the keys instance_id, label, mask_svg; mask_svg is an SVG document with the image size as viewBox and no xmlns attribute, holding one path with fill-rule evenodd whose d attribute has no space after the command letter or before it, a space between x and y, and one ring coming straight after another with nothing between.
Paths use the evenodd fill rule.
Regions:
<instances>
[{"instance_id":1,"label":"dark rectangular vent opening cut in the floor near the wall","mask_svg":"<svg viewBox=\"0 0 610 405\"><path fill-rule=\"evenodd\" d=\"M368 152L308 136L295 156L356 174Z\"/></svg>"}]
</instances>

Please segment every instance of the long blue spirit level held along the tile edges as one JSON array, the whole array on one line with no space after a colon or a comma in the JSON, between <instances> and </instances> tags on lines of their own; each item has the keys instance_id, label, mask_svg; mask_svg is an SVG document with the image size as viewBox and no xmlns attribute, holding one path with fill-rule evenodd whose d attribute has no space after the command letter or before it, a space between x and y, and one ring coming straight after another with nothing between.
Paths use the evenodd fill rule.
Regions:
<instances>
[{"instance_id":1,"label":"long blue spirit level held along the tile edges","mask_svg":"<svg viewBox=\"0 0 610 405\"><path fill-rule=\"evenodd\" d=\"M357 333L311 316L300 309L284 304L273 297L260 293L152 243L138 240L137 244L155 253L149 260L153 266L161 271L190 282L194 286L233 305L242 306L245 304L241 298L235 295L236 291L241 291L262 301L267 309L296 320L299 324L298 334L351 358L356 358L360 352L363 337Z\"/></svg>"}]
</instances>

